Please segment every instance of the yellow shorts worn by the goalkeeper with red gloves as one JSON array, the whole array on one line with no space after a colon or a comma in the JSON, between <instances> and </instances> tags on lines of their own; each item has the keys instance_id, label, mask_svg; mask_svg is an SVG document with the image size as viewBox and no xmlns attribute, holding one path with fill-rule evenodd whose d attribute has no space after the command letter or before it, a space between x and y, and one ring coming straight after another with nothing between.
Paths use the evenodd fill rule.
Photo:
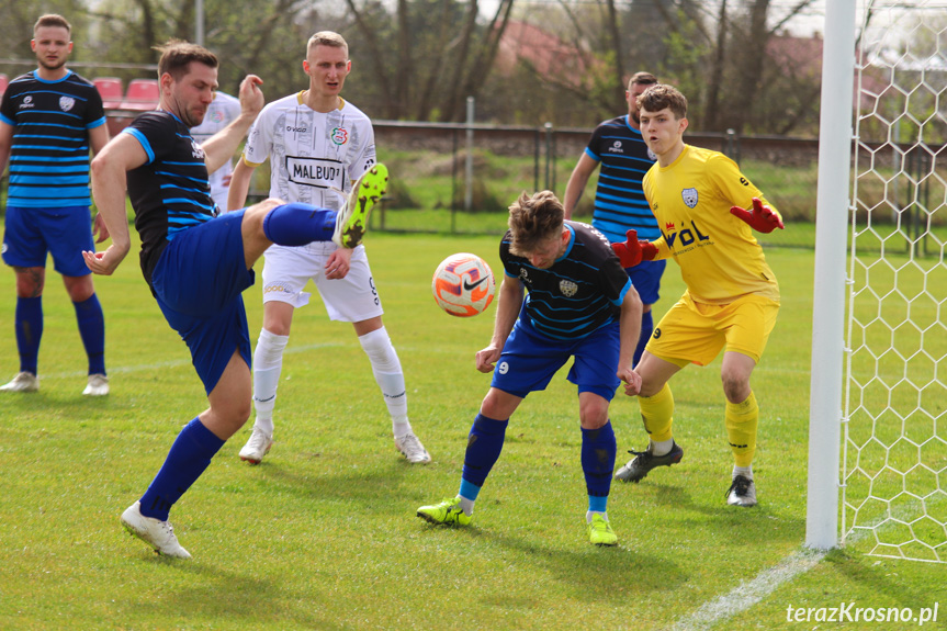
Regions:
<instances>
[{"instance_id":1,"label":"yellow shorts worn by the goalkeeper with red gloves","mask_svg":"<svg viewBox=\"0 0 947 631\"><path fill-rule=\"evenodd\" d=\"M686 292L657 323L645 350L679 367L707 365L725 345L758 363L778 313L778 302L756 294L710 305Z\"/></svg>"}]
</instances>

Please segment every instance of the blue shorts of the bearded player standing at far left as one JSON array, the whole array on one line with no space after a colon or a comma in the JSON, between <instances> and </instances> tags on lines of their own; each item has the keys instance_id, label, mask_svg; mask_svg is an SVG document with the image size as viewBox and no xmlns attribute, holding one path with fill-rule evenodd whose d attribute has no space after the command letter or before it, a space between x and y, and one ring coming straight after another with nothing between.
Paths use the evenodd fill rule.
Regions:
<instances>
[{"instance_id":1,"label":"blue shorts of the bearded player standing at far left","mask_svg":"<svg viewBox=\"0 0 947 631\"><path fill-rule=\"evenodd\" d=\"M7 206L3 262L8 266L45 268L49 252L57 272L64 277L84 277L92 272L82 259L82 250L95 250L88 206Z\"/></svg>"}]
</instances>

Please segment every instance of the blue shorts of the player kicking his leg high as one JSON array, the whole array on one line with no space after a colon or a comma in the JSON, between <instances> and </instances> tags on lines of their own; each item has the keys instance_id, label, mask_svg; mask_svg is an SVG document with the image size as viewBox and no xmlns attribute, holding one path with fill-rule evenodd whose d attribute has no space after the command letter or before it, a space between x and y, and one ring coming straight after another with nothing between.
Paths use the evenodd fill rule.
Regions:
<instances>
[{"instance_id":1,"label":"blue shorts of the player kicking his leg high","mask_svg":"<svg viewBox=\"0 0 947 631\"><path fill-rule=\"evenodd\" d=\"M191 349L210 395L239 351L251 365L247 312L240 293L253 284L244 259L244 211L178 233L151 272L158 306Z\"/></svg>"}]
</instances>

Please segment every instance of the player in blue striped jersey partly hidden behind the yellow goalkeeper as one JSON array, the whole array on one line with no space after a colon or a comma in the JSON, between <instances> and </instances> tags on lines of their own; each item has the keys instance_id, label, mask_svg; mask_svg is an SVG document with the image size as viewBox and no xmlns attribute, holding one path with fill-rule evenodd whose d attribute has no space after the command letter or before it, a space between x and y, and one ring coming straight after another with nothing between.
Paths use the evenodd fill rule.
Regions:
<instances>
[{"instance_id":1,"label":"player in blue striped jersey partly hidden behind the yellow goalkeeper","mask_svg":"<svg viewBox=\"0 0 947 631\"><path fill-rule=\"evenodd\" d=\"M644 173L657 157L641 137L636 101L642 92L655 83L657 79L650 72L636 72L629 80L628 90L624 92L628 100L628 114L605 121L595 128L585 153L579 157L565 187L565 217L570 219L588 183L588 178L596 167L601 165L595 191L591 225L611 243L624 243L625 233L629 229L638 230L638 237L641 239L653 240L661 236L657 221L641 188ZM651 339L654 330L651 306L659 297L661 277L666 264L666 261L645 261L627 270L644 305L641 335L638 338L638 348L634 350L634 365L638 365L641 353L644 352L644 345Z\"/></svg>"}]
</instances>

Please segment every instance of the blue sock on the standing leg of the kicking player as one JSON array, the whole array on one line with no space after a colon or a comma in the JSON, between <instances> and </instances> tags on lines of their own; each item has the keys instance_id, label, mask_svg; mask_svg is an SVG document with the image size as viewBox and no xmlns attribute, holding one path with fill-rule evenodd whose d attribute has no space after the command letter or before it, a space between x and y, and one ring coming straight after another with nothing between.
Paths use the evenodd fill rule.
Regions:
<instances>
[{"instance_id":1,"label":"blue sock on the standing leg of the kicking player","mask_svg":"<svg viewBox=\"0 0 947 631\"><path fill-rule=\"evenodd\" d=\"M142 496L142 515L167 521L171 506L201 477L224 442L200 419L185 425L174 439L158 475Z\"/></svg>"}]
</instances>

